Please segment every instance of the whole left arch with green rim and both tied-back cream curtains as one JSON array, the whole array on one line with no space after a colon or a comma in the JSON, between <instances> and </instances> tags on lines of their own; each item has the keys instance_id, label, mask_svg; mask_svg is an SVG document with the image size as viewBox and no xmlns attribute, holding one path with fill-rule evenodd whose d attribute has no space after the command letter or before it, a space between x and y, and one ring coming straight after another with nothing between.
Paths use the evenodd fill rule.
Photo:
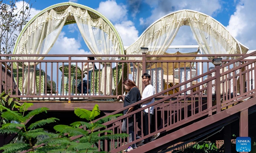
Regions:
<instances>
[{"instance_id":1,"label":"whole left arch with green rim and both tied-back cream curtains","mask_svg":"<svg viewBox=\"0 0 256 153\"><path fill-rule=\"evenodd\" d=\"M15 43L13 54L47 54L56 42L64 25L76 23L78 29L90 49L95 55L123 55L124 47L122 40L114 25L100 12L72 2L55 4L40 11L25 25ZM16 57L21 60L42 60L44 57ZM115 60L116 57L96 57L98 60ZM37 64L37 63L36 63ZM34 62L25 62L24 84L25 93L27 91L35 94L33 89L34 71L31 70ZM110 64L103 65L101 77L104 72L112 71ZM28 79L30 85L28 86ZM113 79L113 78L112 78ZM104 81L104 79L101 79ZM113 85L111 83L111 73L107 74L106 84L108 85L106 94L111 93ZM104 84L104 83L103 83ZM112 87L112 88L111 88ZM110 89L111 88L111 89ZM101 86L102 90L104 85ZM104 91L105 92L105 91Z\"/></svg>"}]
</instances>

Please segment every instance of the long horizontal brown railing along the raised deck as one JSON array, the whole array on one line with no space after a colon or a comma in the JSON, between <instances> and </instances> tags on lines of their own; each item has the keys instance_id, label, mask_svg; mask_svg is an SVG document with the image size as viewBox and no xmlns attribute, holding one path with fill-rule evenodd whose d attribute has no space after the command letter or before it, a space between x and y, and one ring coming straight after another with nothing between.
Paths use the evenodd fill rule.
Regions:
<instances>
[{"instance_id":1,"label":"long horizontal brown railing along the raised deck","mask_svg":"<svg viewBox=\"0 0 256 153\"><path fill-rule=\"evenodd\" d=\"M164 89L172 90L168 92L162 92L158 94L156 98L164 98L173 93L183 90L184 88L192 87L190 91L187 91L186 94L191 93L192 91L201 92L200 95L202 98L207 97L205 84L203 80L208 78L210 73L209 68L214 67L212 60L208 60L206 57L216 58L216 55L169 55L164 57L175 57L177 60L166 60L166 61L157 61L150 60L152 57L161 57L163 55L86 55L86 57L105 57L111 56L116 57L138 57L141 60L90 60L88 61L85 55L0 55L0 56L12 56L12 60L1 60L2 69L5 66L9 65L8 74L4 73L2 70L1 79L2 82L7 83L6 88L10 88L12 91L15 91L16 94L11 95L23 100L27 99L57 99L57 100L76 100L76 99L115 99L117 95L124 94L124 88L121 84L122 81L126 78L130 78L136 81L136 84L141 90L144 86L140 83L140 76L144 72L151 73L151 82L155 85L155 93L160 93ZM45 57L44 60L17 60L21 56L28 57ZM231 56L231 57L240 57L242 55L218 55L218 56ZM182 60L180 58L192 57L195 60ZM203 60L199 60L198 57L202 57ZM84 60L81 60L84 59ZM233 60L222 60L222 63L230 63ZM240 63L250 62L253 60L241 59ZM91 70L91 76L84 75L84 63L92 62L96 65L97 69L93 68ZM4 64L5 63L5 64ZM8 65L6 65L8 63ZM29 68L28 63L30 64ZM237 63L237 62L236 62ZM252 86L248 80L245 78L244 71L245 67L238 68L241 73L236 73L233 71L237 67L236 63L226 64L227 66L221 67L221 72L225 72L225 76L220 80L222 87L220 88L225 93L230 93L231 91L234 94L242 94L244 90L247 90L248 86ZM110 79L109 84L107 84L107 75L101 77L100 73L102 72L103 65L109 64L112 68L110 76L113 76L115 79ZM17 67L18 66L18 67ZM132 69L131 69L132 67ZM228 70L226 70L228 68ZM253 68L253 66L252 66ZM251 68L251 69L252 69ZM26 69L30 69L34 73L26 73ZM86 67L85 69L88 69ZM246 70L249 69L249 65ZM121 71L120 71L121 70ZM192 70L195 71L195 77L192 75ZM105 70L107 73L107 71ZM174 76L177 72L177 76ZM106 74L105 73L105 74ZM214 71L211 71L213 74ZM12 75L10 75L12 74ZM168 74L168 75L167 75ZM202 75L204 74L204 75ZM216 73L217 74L217 73ZM232 77L231 77L232 74ZM24 85L24 79L27 75L27 86ZM33 76L30 76L33 75ZM198 77L200 76L200 77ZM213 75L212 75L213 76ZM193 79L189 79L192 78ZM248 77L248 75L247 75ZM7 81L7 78L14 80ZM183 84L182 86L177 86L178 84L190 80L189 83ZM246 80L245 80L246 79ZM87 85L83 84L83 80L88 81ZM214 79L212 79L214 80ZM230 83L228 82L230 81ZM239 82L238 85L237 81ZM213 81L214 82L214 81ZM224 83L228 82L228 83ZM231 84L234 84L232 85ZM245 86L246 82L246 86ZM90 84L89 84L90 83ZM205 82L204 82L205 83ZM15 87L15 84L17 87ZM200 86L195 86L200 84ZM112 85L114 87L112 87ZM27 88L30 86L31 88ZM110 94L103 94L106 91L106 88L110 89ZM100 90L100 88L102 88ZM241 88L241 89L240 89ZM86 90L85 90L86 89ZM223 89L223 90L222 90ZM34 91L34 92L31 92ZM239 93L241 92L241 93ZM234 95L233 94L233 95ZM229 96L229 97L228 97ZM225 95L224 100L230 99L232 96ZM175 97L177 98L177 96Z\"/></svg>"}]
</instances>

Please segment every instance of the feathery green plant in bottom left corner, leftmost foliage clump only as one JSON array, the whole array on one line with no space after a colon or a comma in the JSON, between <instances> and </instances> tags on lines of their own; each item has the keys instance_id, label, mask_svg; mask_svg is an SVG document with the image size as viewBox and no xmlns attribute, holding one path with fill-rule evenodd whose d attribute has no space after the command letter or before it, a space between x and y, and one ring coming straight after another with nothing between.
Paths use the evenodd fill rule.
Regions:
<instances>
[{"instance_id":1,"label":"feathery green plant in bottom left corner, leftmost foliage clump only","mask_svg":"<svg viewBox=\"0 0 256 153\"><path fill-rule=\"evenodd\" d=\"M58 135L47 133L43 128L37 128L41 127L47 123L55 122L55 120L58 120L56 118L49 118L46 120L39 120L35 123L32 123L28 128L25 126L27 121L30 117L38 114L39 112L45 112L47 108L39 108L34 111L29 112L26 116L24 115L25 112L28 111L28 108L30 106L33 106L31 103L24 103L21 106L14 105L15 108L19 108L19 111L13 111L3 105L0 105L0 108L2 111L1 117L9 120L9 123L2 124L0 127L0 133L2 134L12 134L17 133L20 135L20 137L23 137L22 143L10 143L8 145L4 145L3 147L0 147L0 150L4 150L4 153L7 152L16 152L21 150L27 150L27 149L33 149L33 147L36 145L37 137L40 135L48 135L49 138L52 136L57 137Z\"/></svg>"}]
</instances>

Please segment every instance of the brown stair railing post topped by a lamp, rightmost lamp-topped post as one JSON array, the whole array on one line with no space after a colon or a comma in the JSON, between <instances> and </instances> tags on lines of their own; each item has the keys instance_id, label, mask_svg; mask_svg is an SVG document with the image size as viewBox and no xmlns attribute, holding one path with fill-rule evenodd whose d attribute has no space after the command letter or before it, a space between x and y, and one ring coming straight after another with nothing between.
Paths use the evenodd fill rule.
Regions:
<instances>
[{"instance_id":1,"label":"brown stair railing post topped by a lamp, rightmost lamp-topped post","mask_svg":"<svg viewBox=\"0 0 256 153\"><path fill-rule=\"evenodd\" d=\"M212 59L213 64L216 67L216 105L217 113L221 111L221 101L220 101L220 65L222 58Z\"/></svg>"}]
</instances>

